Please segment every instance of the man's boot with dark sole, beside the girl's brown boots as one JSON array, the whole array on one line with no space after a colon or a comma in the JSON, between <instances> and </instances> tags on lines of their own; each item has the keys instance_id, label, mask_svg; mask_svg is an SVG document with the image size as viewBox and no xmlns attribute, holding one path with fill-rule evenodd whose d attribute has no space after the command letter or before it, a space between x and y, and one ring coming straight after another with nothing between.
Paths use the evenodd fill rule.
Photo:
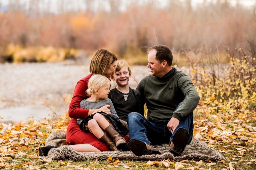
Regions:
<instances>
[{"instance_id":1,"label":"man's boot with dark sole, beside the girl's brown boots","mask_svg":"<svg viewBox=\"0 0 256 170\"><path fill-rule=\"evenodd\" d=\"M161 154L161 152L152 146L137 139L131 139L128 143L128 148L137 156Z\"/></svg>"}]
</instances>

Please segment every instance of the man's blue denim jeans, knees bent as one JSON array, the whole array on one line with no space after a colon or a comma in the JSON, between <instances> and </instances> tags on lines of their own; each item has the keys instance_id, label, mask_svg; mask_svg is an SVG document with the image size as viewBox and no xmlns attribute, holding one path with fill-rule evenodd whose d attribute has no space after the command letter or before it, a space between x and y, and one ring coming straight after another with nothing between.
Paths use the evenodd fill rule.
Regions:
<instances>
[{"instance_id":1,"label":"man's blue denim jeans, knees bent","mask_svg":"<svg viewBox=\"0 0 256 170\"><path fill-rule=\"evenodd\" d=\"M185 128L188 131L187 144L189 144L192 140L194 129L193 113L190 113L188 116L184 117L180 121L173 134L169 131L167 127L169 121L170 120L149 122L141 114L132 112L128 115L127 121L130 139L137 139L144 143L147 143L148 145L162 143L170 144L176 131L179 128Z\"/></svg>"}]
</instances>

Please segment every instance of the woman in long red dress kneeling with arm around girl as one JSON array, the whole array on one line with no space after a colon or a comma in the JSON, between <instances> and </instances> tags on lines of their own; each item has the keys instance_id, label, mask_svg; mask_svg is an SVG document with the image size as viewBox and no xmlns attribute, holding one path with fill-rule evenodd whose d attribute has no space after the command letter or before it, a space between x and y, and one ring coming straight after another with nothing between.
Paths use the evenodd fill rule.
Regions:
<instances>
[{"instance_id":1,"label":"woman in long red dress kneeling with arm around girl","mask_svg":"<svg viewBox=\"0 0 256 170\"><path fill-rule=\"evenodd\" d=\"M79 80L76 84L74 94L69 106L69 117L72 118L69 121L67 128L67 142L74 150L79 152L101 152L109 151L108 146L101 142L92 133L84 132L79 128L77 119L84 119L87 116L95 112L105 112L110 113L110 105L101 107L100 109L83 109L79 108L79 104L85 98L88 98L85 91L88 89L88 81L93 74L101 74L106 77L110 77L111 73L115 70L116 56L105 49L99 49L92 57L90 63L90 74ZM110 81L110 80L109 80ZM124 136L124 138L129 140L129 137ZM53 148L53 146L46 146L39 148L39 155L47 156L48 151Z\"/></svg>"}]
</instances>

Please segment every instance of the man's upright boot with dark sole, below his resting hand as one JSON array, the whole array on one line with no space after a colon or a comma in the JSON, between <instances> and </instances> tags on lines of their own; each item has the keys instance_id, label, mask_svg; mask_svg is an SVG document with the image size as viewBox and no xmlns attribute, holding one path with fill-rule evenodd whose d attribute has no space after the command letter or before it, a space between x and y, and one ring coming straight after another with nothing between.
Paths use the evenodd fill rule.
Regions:
<instances>
[{"instance_id":1,"label":"man's upright boot with dark sole, below his resting hand","mask_svg":"<svg viewBox=\"0 0 256 170\"><path fill-rule=\"evenodd\" d=\"M174 156L180 155L187 145L188 131L184 128L179 128L173 136L169 146L169 152Z\"/></svg>"}]
</instances>

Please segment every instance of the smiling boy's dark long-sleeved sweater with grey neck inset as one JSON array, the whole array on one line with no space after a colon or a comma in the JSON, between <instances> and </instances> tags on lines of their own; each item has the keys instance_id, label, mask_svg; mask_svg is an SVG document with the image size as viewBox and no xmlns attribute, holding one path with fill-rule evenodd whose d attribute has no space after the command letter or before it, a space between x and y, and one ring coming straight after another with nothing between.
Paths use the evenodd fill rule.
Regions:
<instances>
[{"instance_id":1,"label":"smiling boy's dark long-sleeved sweater with grey neck inset","mask_svg":"<svg viewBox=\"0 0 256 170\"><path fill-rule=\"evenodd\" d=\"M124 95L128 95L126 101L124 100ZM114 88L110 91L108 98L111 99L119 119L127 122L128 114L131 112L138 112L144 116L144 108L139 90L129 87L129 93L124 94Z\"/></svg>"}]
</instances>

